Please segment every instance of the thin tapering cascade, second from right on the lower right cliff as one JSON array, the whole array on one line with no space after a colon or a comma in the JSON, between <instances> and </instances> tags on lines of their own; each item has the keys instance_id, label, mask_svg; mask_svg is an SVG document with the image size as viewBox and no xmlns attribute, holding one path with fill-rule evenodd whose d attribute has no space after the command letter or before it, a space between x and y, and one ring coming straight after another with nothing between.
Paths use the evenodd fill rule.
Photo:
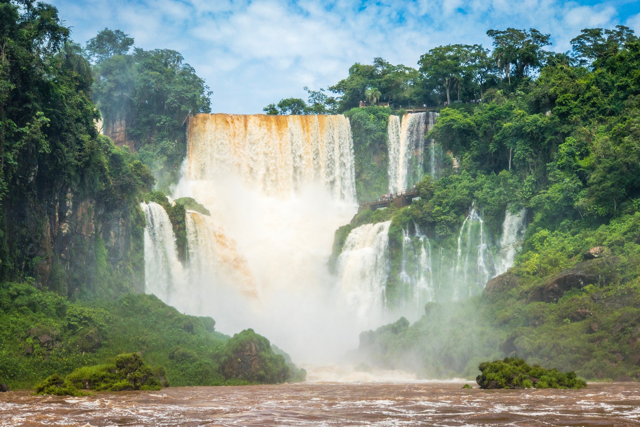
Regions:
<instances>
[{"instance_id":1,"label":"thin tapering cascade, second from right on the lower right cliff","mask_svg":"<svg viewBox=\"0 0 640 427\"><path fill-rule=\"evenodd\" d=\"M466 298L483 289L494 272L493 256L486 241L483 219L472 205L458 234L452 298Z\"/></svg>"}]
</instances>

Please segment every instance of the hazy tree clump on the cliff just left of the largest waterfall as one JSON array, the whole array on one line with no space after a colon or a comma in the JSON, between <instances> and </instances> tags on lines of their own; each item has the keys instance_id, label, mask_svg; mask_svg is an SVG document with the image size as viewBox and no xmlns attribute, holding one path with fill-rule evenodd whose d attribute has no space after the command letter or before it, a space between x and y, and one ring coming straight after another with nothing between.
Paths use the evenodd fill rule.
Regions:
<instances>
[{"instance_id":1,"label":"hazy tree clump on the cliff just left of the largest waterfall","mask_svg":"<svg viewBox=\"0 0 640 427\"><path fill-rule=\"evenodd\" d=\"M209 113L209 88L169 49L127 54L133 39L104 29L87 43L96 63L93 100L106 134L118 145L131 145L136 157L168 191L177 182L186 155L185 124L189 115Z\"/></svg>"}]
</instances>

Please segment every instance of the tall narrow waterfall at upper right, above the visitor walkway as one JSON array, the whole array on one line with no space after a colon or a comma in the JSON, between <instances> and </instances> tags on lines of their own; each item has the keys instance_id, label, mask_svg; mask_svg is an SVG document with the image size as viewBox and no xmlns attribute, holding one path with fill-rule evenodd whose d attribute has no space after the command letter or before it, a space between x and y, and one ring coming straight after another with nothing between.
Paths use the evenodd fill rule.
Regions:
<instances>
[{"instance_id":1,"label":"tall narrow waterfall at upper right, above the visitor walkway","mask_svg":"<svg viewBox=\"0 0 640 427\"><path fill-rule=\"evenodd\" d=\"M435 177L436 154L433 141L429 141L429 166L425 168L426 133L435 124L437 113L410 113L400 118L389 116L387 150L389 156L389 191L395 193L422 179L425 172Z\"/></svg>"}]
</instances>

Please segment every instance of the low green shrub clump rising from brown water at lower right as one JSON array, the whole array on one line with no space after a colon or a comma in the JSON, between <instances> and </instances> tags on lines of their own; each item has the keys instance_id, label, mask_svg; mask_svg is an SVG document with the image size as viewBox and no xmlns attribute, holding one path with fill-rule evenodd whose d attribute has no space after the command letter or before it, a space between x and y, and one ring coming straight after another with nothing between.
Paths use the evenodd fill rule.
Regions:
<instances>
[{"instance_id":1,"label":"low green shrub clump rising from brown water at lower right","mask_svg":"<svg viewBox=\"0 0 640 427\"><path fill-rule=\"evenodd\" d=\"M587 383L575 372L562 373L557 369L529 366L518 357L483 362L476 382L481 389L582 389Z\"/></svg>"}]
</instances>

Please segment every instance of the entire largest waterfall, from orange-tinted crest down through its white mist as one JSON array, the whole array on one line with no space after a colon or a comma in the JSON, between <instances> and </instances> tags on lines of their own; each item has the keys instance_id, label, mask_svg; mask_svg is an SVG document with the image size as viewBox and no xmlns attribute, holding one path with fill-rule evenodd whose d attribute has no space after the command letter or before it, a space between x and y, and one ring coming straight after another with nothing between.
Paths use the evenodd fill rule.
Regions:
<instances>
[{"instance_id":1,"label":"entire largest waterfall, from orange-tinted crest down through its white mist","mask_svg":"<svg viewBox=\"0 0 640 427\"><path fill-rule=\"evenodd\" d=\"M348 118L196 115L181 173L172 196L211 213L186 215L189 314L222 332L254 328L308 362L379 325L337 309L351 294L327 268L333 232L356 211Z\"/></svg>"}]
</instances>

